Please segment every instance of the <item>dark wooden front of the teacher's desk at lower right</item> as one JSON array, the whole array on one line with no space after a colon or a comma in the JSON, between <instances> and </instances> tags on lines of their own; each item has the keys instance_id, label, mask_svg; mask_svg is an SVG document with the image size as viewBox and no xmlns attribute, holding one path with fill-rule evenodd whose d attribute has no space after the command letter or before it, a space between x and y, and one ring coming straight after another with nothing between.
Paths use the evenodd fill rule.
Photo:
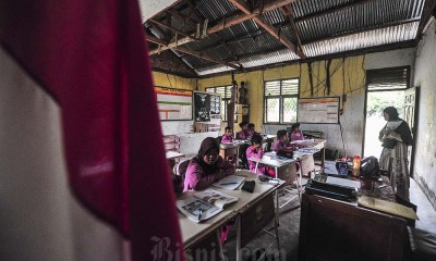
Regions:
<instances>
[{"instance_id":1,"label":"dark wooden front of the teacher's desk at lower right","mask_svg":"<svg viewBox=\"0 0 436 261\"><path fill-rule=\"evenodd\" d=\"M403 260L407 222L358 204L303 194L299 260Z\"/></svg>"}]
</instances>

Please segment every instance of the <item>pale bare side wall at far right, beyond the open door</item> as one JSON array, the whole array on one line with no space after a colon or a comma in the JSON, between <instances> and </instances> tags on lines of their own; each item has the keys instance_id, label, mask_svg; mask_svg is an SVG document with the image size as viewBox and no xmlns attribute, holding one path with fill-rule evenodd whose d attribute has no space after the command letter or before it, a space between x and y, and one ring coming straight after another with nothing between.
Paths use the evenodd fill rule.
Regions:
<instances>
[{"instance_id":1,"label":"pale bare side wall at far right, beyond the open door","mask_svg":"<svg viewBox=\"0 0 436 261\"><path fill-rule=\"evenodd\" d=\"M436 22L425 32L415 55L414 86L421 87L414 177L436 208Z\"/></svg>"}]
</instances>

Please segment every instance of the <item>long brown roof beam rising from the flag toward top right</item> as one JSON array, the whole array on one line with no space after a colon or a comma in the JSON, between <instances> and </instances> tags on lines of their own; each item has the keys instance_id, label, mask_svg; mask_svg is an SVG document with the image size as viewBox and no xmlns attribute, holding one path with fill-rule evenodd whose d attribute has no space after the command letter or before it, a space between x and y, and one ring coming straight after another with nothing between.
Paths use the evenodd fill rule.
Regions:
<instances>
[{"instance_id":1,"label":"long brown roof beam rising from the flag toward top right","mask_svg":"<svg viewBox=\"0 0 436 261\"><path fill-rule=\"evenodd\" d=\"M242 23L244 21L253 18L256 15L262 14L263 12L272 11L275 9L281 8L281 7L287 5L287 4L290 4L290 3L294 2L294 1L296 1L296 0L276 0L274 2L265 4L263 9L253 10L253 12L251 14L241 13L241 14L232 16L230 18L222 18L216 25L207 28L207 35L211 35L211 34L215 34L217 32L223 30L223 29L229 28L229 27L231 27L233 25L237 25L239 23ZM191 38L185 37L185 38L182 38L182 39L180 39L178 41L172 41L172 42L168 44L167 48L161 48L160 50L158 50L158 49L150 50L148 52L148 54L153 55L153 54L156 54L156 53L158 53L158 52L160 52L162 50L167 50L167 49L170 49L170 48L174 48L177 46L185 45L185 44L191 42L191 41L193 41Z\"/></svg>"}]
</instances>

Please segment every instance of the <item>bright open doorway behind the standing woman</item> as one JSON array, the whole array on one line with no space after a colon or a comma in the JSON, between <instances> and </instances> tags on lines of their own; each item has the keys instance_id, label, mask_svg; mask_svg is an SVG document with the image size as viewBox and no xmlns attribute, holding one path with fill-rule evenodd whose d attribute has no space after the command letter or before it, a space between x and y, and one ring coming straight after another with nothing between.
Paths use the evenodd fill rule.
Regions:
<instances>
[{"instance_id":1,"label":"bright open doorway behind the standing woman","mask_svg":"<svg viewBox=\"0 0 436 261\"><path fill-rule=\"evenodd\" d=\"M397 108L400 119L403 119L404 90L378 90L367 92L364 157L374 156L379 158L382 153L383 148L382 142L378 140L378 133L386 124L383 117L383 110L386 107Z\"/></svg>"}]
</instances>

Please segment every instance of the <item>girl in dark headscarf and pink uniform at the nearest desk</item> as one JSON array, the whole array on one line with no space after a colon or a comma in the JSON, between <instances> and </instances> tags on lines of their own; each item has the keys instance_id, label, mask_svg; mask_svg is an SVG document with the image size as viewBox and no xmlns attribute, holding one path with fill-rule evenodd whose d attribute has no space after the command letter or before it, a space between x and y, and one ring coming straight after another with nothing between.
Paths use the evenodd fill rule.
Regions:
<instances>
[{"instance_id":1,"label":"girl in dark headscarf and pink uniform at the nearest desk","mask_svg":"<svg viewBox=\"0 0 436 261\"><path fill-rule=\"evenodd\" d=\"M183 191L206 188L216 181L234 174L234 166L219 156L218 140L207 137L202 141L198 154L187 165Z\"/></svg>"}]
</instances>

